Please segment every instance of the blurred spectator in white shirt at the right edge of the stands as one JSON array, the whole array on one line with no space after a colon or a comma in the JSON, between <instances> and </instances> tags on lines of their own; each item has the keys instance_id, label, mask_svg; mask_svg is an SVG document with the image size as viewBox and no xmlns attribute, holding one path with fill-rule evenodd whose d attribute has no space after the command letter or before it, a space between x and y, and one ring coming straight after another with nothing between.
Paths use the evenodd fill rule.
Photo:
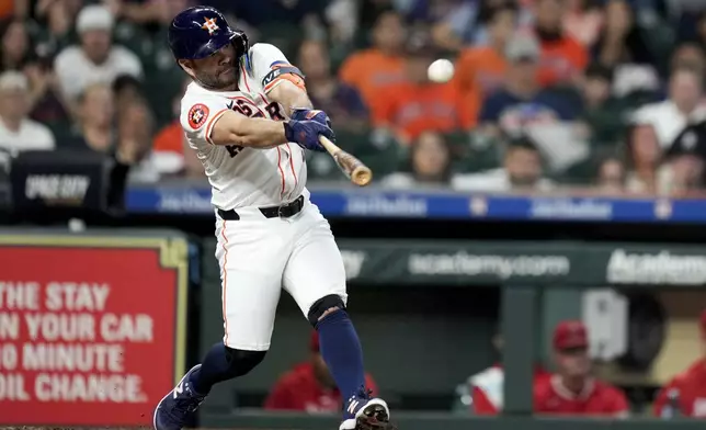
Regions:
<instances>
[{"instance_id":1,"label":"blurred spectator in white shirt at the right edge of the stands","mask_svg":"<svg viewBox=\"0 0 706 430\"><path fill-rule=\"evenodd\" d=\"M669 99L640 108L636 121L651 124L660 146L668 147L687 124L706 120L703 76L698 69L677 67L669 81Z\"/></svg>"}]
</instances>

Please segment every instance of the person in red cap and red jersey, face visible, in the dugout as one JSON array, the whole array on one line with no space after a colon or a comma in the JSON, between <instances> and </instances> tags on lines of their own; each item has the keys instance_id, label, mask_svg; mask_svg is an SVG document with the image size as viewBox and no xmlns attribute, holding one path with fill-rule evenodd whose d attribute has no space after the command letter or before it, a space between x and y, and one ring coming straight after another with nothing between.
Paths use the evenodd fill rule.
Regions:
<instances>
[{"instance_id":1,"label":"person in red cap and red jersey, face visible, in the dugout","mask_svg":"<svg viewBox=\"0 0 706 430\"><path fill-rule=\"evenodd\" d=\"M554 331L557 373L537 381L537 414L627 417L625 394L591 375L589 337L581 321L561 321Z\"/></svg>"}]
</instances>

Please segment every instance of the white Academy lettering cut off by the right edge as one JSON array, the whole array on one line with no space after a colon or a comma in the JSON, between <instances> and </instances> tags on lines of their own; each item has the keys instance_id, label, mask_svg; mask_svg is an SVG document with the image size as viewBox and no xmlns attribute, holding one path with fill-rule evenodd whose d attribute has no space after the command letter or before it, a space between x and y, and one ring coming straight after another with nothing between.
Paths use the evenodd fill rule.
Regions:
<instances>
[{"instance_id":1,"label":"white Academy lettering cut off by the right edge","mask_svg":"<svg viewBox=\"0 0 706 430\"><path fill-rule=\"evenodd\" d=\"M607 281L613 284L706 284L706 254L680 256L668 250L631 253L616 249L607 264Z\"/></svg>"}]
</instances>

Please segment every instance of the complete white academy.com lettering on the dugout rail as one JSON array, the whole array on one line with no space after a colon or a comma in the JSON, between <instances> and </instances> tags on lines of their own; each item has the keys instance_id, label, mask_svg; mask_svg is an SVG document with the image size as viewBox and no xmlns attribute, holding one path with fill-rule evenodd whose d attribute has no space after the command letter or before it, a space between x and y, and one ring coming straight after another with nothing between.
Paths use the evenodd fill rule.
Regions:
<instances>
[{"instance_id":1,"label":"complete white academy.com lettering on the dugout rail","mask_svg":"<svg viewBox=\"0 0 706 430\"><path fill-rule=\"evenodd\" d=\"M454 253L411 253L408 259L411 274L423 275L491 275L510 278L566 276L571 261L566 256L500 256Z\"/></svg>"}]
</instances>

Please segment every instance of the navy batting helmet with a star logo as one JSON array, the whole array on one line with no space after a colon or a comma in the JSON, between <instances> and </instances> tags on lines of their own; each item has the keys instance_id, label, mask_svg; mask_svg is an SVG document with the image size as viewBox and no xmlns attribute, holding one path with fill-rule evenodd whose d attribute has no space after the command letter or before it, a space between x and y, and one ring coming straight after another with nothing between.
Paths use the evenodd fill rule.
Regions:
<instances>
[{"instance_id":1,"label":"navy batting helmet with a star logo","mask_svg":"<svg viewBox=\"0 0 706 430\"><path fill-rule=\"evenodd\" d=\"M196 5L180 12L169 26L169 47L176 59L200 59L232 43L238 57L248 52L248 36L228 25L215 8Z\"/></svg>"}]
</instances>

